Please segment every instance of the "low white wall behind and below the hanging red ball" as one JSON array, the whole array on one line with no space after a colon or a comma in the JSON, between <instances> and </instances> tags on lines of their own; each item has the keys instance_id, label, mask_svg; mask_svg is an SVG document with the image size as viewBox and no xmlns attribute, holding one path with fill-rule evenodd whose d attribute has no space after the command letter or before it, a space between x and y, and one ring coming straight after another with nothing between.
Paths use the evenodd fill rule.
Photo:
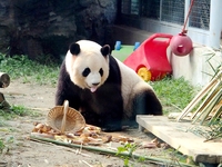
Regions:
<instances>
[{"instance_id":1,"label":"low white wall behind and below the hanging red ball","mask_svg":"<svg viewBox=\"0 0 222 167\"><path fill-rule=\"evenodd\" d=\"M193 51L188 56L179 57L171 55L173 77L184 77L195 86L206 85L212 78L210 75L214 75L210 63L214 68L222 63L222 56L220 51L218 51L213 58L211 58L211 56L212 51L210 51L209 48L195 43L193 45ZM208 62L209 59L210 63Z\"/></svg>"}]
</instances>

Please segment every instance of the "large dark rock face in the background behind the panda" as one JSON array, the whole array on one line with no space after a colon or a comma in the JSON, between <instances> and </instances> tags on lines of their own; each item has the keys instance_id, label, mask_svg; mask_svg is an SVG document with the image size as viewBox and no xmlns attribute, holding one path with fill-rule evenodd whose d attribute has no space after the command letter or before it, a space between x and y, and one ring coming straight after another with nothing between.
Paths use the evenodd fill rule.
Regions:
<instances>
[{"instance_id":1,"label":"large dark rock face in the background behind the panda","mask_svg":"<svg viewBox=\"0 0 222 167\"><path fill-rule=\"evenodd\" d=\"M0 52L60 58L70 42L94 40L101 45L111 36L118 0L1 0Z\"/></svg>"}]
</instances>

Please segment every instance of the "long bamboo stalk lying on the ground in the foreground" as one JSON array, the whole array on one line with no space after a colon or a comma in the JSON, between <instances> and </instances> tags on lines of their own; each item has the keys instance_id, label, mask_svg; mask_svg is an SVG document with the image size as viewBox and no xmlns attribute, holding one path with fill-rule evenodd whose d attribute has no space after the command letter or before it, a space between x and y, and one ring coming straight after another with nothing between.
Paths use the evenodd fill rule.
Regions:
<instances>
[{"instance_id":1,"label":"long bamboo stalk lying on the ground in the foreground","mask_svg":"<svg viewBox=\"0 0 222 167\"><path fill-rule=\"evenodd\" d=\"M142 155L132 154L132 153L128 153L128 151L118 153L115 150L105 149L105 148L101 148L101 147L62 143L62 141L58 141L58 140L54 140L54 139L42 138L42 137L33 136L33 135L30 136L30 139L33 140L33 141L41 140L41 141L52 143L52 144L56 144L56 145L65 146L65 147L70 147L70 148L83 148L83 149L87 149L87 150L99 151L99 153L110 154L110 155L114 155L114 156L124 156L124 157L131 157L131 158L133 157L135 159L139 159L139 158L142 157L145 160L161 163L161 164L165 164L165 163L172 164L173 163L173 160L163 159L163 158L148 157L148 156L142 156ZM180 166L180 167L196 167L195 165L189 165L189 164L184 164L184 163L173 164L173 165Z\"/></svg>"}]
</instances>

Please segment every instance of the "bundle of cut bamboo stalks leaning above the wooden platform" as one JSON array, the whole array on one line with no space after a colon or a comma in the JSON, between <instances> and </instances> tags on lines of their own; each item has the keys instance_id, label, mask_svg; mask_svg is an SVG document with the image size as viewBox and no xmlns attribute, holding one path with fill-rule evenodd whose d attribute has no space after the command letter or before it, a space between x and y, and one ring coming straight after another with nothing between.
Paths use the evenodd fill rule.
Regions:
<instances>
[{"instance_id":1,"label":"bundle of cut bamboo stalks leaning above the wooden platform","mask_svg":"<svg viewBox=\"0 0 222 167\"><path fill-rule=\"evenodd\" d=\"M192 112L192 122L211 126L215 121L221 121L222 116L222 68L213 77L193 100L183 109L178 117L178 121L182 120L189 112ZM206 124L205 124L206 122Z\"/></svg>"}]
</instances>

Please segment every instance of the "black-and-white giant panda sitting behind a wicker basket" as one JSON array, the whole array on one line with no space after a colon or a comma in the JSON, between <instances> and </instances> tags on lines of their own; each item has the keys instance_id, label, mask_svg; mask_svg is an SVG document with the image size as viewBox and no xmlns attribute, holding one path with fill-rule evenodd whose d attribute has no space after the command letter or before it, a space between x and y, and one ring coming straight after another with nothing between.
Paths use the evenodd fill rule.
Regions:
<instances>
[{"instance_id":1,"label":"black-and-white giant panda sitting behind a wicker basket","mask_svg":"<svg viewBox=\"0 0 222 167\"><path fill-rule=\"evenodd\" d=\"M103 131L137 126L137 115L162 115L152 87L110 52L108 45L90 40L71 43L60 68L56 105L69 100L87 124Z\"/></svg>"}]
</instances>

